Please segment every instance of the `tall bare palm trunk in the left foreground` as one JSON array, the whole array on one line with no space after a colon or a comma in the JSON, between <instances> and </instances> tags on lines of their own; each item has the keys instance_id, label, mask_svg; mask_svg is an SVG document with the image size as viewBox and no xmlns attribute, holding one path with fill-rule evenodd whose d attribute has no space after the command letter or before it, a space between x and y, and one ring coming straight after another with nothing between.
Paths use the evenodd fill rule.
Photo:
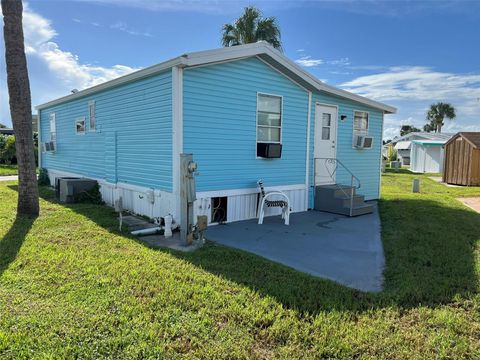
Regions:
<instances>
[{"instance_id":1,"label":"tall bare palm trunk in the left foreground","mask_svg":"<svg viewBox=\"0 0 480 360\"><path fill-rule=\"evenodd\" d=\"M23 43L22 12L21 0L2 0L7 85L18 163L17 215L37 216L39 204L33 150L32 101Z\"/></svg>"}]
</instances>

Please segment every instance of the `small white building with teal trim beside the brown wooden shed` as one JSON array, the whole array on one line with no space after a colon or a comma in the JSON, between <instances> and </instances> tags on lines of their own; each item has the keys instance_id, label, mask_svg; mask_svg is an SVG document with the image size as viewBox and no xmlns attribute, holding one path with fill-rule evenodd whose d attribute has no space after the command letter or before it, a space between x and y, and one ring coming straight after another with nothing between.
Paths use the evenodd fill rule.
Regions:
<instances>
[{"instance_id":1,"label":"small white building with teal trim beside the brown wooden shed","mask_svg":"<svg viewBox=\"0 0 480 360\"><path fill-rule=\"evenodd\" d=\"M413 140L410 171L415 173L439 173L443 171L446 141Z\"/></svg>"}]
</instances>

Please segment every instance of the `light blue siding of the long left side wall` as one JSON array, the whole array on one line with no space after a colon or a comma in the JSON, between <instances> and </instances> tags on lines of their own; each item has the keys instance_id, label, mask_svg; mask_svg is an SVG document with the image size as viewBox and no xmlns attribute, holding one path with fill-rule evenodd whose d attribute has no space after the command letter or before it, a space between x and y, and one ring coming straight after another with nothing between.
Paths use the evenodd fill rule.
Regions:
<instances>
[{"instance_id":1,"label":"light blue siding of the long left side wall","mask_svg":"<svg viewBox=\"0 0 480 360\"><path fill-rule=\"evenodd\" d=\"M97 130L90 131L88 102L95 100ZM41 142L50 139L56 114L57 151L42 167L156 188L172 189L172 79L168 70L81 99L42 109ZM85 135L75 119L86 117Z\"/></svg>"}]
</instances>

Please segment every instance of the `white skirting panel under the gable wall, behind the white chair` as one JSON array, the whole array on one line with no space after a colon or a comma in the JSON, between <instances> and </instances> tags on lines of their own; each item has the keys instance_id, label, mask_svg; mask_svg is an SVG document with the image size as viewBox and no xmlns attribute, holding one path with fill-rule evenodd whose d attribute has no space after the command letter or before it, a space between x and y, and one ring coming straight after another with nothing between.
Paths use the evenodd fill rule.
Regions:
<instances>
[{"instance_id":1,"label":"white skirting panel under the gable wall, behind the white chair","mask_svg":"<svg viewBox=\"0 0 480 360\"><path fill-rule=\"evenodd\" d=\"M290 206L292 207L293 212L307 210L304 184L285 187L277 186L275 188L267 188L266 190L267 192L273 190L283 191L290 200ZM197 201L195 201L194 204L194 217L196 218L197 215L207 215L208 222L211 223L212 198L223 196L227 197L227 222L248 220L257 217L259 193L258 190L255 189L197 193ZM265 216L280 215L280 213L280 208L268 208L265 212Z\"/></svg>"}]
</instances>

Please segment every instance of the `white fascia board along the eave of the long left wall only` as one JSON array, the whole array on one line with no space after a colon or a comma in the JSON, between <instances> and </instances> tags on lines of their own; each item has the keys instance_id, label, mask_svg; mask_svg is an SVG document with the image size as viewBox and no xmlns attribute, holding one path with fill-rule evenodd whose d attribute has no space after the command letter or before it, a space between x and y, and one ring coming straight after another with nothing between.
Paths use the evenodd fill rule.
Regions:
<instances>
[{"instance_id":1,"label":"white fascia board along the eave of the long left wall only","mask_svg":"<svg viewBox=\"0 0 480 360\"><path fill-rule=\"evenodd\" d=\"M90 94L93 94L93 93L97 93L97 92L102 91L102 90L106 90L106 89L109 89L109 88L112 88L112 87L115 87L115 86L118 86L118 85L126 84L126 83L129 83L129 82L138 80L138 79L142 79L142 78L154 75L156 73L159 73L159 72L162 72L164 70L170 69L171 67L173 67L175 65L182 65L183 63L184 63L184 58L182 56L179 56L179 57L176 57L174 59L162 62L160 64L149 66L145 69L135 71L135 72L130 73L128 75L124 75L124 76L121 76L119 78L101 83L99 85L92 86L92 87L87 88L85 90L78 91L74 94L63 96L61 98L46 102L44 104L37 105L35 107L35 109L41 110L41 109L44 109L44 108L47 108L47 107L50 107L50 106L54 106L54 105L64 103L66 101L78 99L78 98L81 98L81 97L84 97L84 96L87 96L87 95L90 95Z\"/></svg>"}]
</instances>

